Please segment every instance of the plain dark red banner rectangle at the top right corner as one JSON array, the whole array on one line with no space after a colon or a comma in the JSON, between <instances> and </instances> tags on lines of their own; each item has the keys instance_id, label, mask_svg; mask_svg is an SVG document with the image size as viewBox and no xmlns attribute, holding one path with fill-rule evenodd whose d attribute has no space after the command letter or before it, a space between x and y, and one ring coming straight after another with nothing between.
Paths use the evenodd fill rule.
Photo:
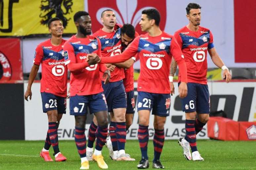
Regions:
<instances>
[{"instance_id":1,"label":"plain dark red banner rectangle at the top right corner","mask_svg":"<svg viewBox=\"0 0 256 170\"><path fill-rule=\"evenodd\" d=\"M255 0L234 0L235 63L256 63Z\"/></svg>"}]
</instances>

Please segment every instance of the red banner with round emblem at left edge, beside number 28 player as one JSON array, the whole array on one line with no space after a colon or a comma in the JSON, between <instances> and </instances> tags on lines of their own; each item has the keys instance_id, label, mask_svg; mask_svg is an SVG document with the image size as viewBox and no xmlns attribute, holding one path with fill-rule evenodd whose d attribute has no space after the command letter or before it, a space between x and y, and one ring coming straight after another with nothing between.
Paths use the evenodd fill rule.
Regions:
<instances>
[{"instance_id":1,"label":"red banner with round emblem at left edge, beside number 28 player","mask_svg":"<svg viewBox=\"0 0 256 170\"><path fill-rule=\"evenodd\" d=\"M20 39L0 39L0 83L23 80Z\"/></svg>"}]
</instances>

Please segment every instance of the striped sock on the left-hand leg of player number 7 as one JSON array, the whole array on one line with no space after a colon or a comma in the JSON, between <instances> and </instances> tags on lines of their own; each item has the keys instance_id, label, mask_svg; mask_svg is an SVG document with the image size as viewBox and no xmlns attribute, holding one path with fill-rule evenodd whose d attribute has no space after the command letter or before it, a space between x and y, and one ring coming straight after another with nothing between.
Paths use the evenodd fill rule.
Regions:
<instances>
[{"instance_id":1,"label":"striped sock on the left-hand leg of player number 7","mask_svg":"<svg viewBox=\"0 0 256 170\"><path fill-rule=\"evenodd\" d=\"M86 157L86 137L85 129L75 127L75 145L80 157Z\"/></svg>"}]
</instances>

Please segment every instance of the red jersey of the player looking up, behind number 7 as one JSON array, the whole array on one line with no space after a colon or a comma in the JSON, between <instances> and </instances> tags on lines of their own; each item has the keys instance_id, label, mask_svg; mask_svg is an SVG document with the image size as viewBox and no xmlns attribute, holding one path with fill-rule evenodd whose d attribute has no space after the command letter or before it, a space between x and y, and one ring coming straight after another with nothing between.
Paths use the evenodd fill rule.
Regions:
<instances>
[{"instance_id":1,"label":"red jersey of the player looking up, behind number 7","mask_svg":"<svg viewBox=\"0 0 256 170\"><path fill-rule=\"evenodd\" d=\"M94 37L98 37L101 41L101 53L102 57L109 57L121 54L121 27L115 26L112 33L104 32L102 29L93 34ZM122 80L124 78L124 69L116 67L111 72L110 82ZM105 79L102 79L104 81Z\"/></svg>"}]
</instances>

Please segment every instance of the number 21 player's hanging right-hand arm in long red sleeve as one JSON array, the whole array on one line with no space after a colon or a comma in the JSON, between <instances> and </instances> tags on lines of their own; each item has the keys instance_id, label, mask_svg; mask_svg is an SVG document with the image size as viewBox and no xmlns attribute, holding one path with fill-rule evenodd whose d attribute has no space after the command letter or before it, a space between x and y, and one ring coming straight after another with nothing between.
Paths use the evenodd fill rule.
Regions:
<instances>
[{"instance_id":1,"label":"number 21 player's hanging right-hand arm in long red sleeve","mask_svg":"<svg viewBox=\"0 0 256 170\"><path fill-rule=\"evenodd\" d=\"M179 66L179 71L181 73L181 83L179 85L180 98L185 98L188 94L187 66L181 48L178 45L175 37L173 37L171 41L171 54L177 62Z\"/></svg>"}]
</instances>

